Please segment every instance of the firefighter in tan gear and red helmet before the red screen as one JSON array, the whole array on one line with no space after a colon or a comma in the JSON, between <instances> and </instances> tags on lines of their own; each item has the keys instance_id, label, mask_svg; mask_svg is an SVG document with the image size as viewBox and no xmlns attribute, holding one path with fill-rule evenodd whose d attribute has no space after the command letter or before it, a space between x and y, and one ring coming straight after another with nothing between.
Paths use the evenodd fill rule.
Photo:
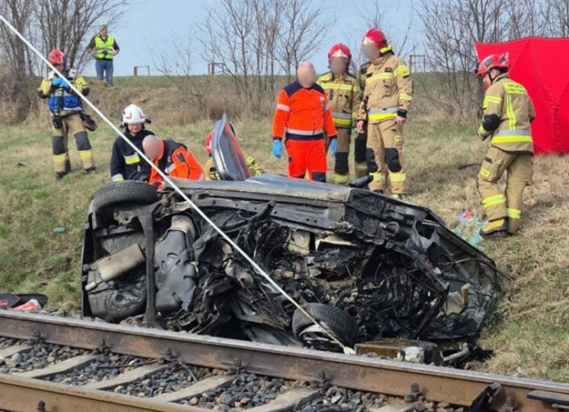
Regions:
<instances>
[{"instance_id":1,"label":"firefighter in tan gear and red helmet before the red screen","mask_svg":"<svg viewBox=\"0 0 569 412\"><path fill-rule=\"evenodd\" d=\"M533 178L533 139L531 126L536 113L526 89L508 75L507 54L489 55L477 69L484 77L484 116L478 129L490 148L478 175L478 191L489 224L480 229L487 236L507 230L515 234L521 218L523 190ZM498 180L508 173L506 193Z\"/></svg>"}]
</instances>

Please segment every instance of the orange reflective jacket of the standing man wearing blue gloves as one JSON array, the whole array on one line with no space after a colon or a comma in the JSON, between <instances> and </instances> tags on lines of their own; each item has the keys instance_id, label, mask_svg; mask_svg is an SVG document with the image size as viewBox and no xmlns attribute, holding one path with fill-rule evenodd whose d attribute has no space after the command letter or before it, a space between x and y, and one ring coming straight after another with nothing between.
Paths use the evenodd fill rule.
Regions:
<instances>
[{"instance_id":1,"label":"orange reflective jacket of the standing man wearing blue gloves","mask_svg":"<svg viewBox=\"0 0 569 412\"><path fill-rule=\"evenodd\" d=\"M295 81L280 91L272 138L282 140L336 139L337 132L324 89L314 83L304 88Z\"/></svg>"}]
</instances>

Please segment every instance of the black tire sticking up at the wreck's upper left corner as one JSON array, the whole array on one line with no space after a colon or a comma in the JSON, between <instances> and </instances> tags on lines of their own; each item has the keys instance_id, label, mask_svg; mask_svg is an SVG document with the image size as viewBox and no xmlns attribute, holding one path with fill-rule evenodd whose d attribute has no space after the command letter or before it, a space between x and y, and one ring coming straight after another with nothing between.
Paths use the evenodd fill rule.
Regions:
<instances>
[{"instance_id":1,"label":"black tire sticking up at the wreck's upper left corner","mask_svg":"<svg viewBox=\"0 0 569 412\"><path fill-rule=\"evenodd\" d=\"M93 197L93 207L95 211L103 212L119 203L151 205L157 201L158 192L153 186L138 180L125 180L109 183L97 190Z\"/></svg>"}]
</instances>

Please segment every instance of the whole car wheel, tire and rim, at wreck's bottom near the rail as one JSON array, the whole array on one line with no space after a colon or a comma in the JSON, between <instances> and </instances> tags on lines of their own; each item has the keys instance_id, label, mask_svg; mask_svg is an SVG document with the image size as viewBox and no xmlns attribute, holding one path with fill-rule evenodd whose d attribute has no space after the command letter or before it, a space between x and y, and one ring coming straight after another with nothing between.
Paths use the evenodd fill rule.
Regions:
<instances>
[{"instance_id":1,"label":"whole car wheel, tire and rim, at wreck's bottom near the rail","mask_svg":"<svg viewBox=\"0 0 569 412\"><path fill-rule=\"evenodd\" d=\"M359 329L356 322L344 310L322 303L302 305L322 327L336 337L342 345L353 347L358 342ZM292 332L304 345L318 350L341 352L341 347L331 339L328 333L307 318L300 310L292 316Z\"/></svg>"}]
</instances>

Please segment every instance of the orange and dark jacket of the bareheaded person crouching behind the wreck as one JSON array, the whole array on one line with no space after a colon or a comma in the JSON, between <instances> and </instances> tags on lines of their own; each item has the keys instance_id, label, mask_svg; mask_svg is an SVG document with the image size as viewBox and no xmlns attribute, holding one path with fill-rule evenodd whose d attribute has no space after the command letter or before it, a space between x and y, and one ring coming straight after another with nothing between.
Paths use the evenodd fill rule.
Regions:
<instances>
[{"instance_id":1,"label":"orange and dark jacket of the bareheaded person crouching behind the wreck","mask_svg":"<svg viewBox=\"0 0 569 412\"><path fill-rule=\"evenodd\" d=\"M154 161L162 173L172 178L199 180L203 175L201 164L188 148L173 140L163 140L161 156ZM161 190L164 179L154 168L151 169L148 183Z\"/></svg>"}]
</instances>

